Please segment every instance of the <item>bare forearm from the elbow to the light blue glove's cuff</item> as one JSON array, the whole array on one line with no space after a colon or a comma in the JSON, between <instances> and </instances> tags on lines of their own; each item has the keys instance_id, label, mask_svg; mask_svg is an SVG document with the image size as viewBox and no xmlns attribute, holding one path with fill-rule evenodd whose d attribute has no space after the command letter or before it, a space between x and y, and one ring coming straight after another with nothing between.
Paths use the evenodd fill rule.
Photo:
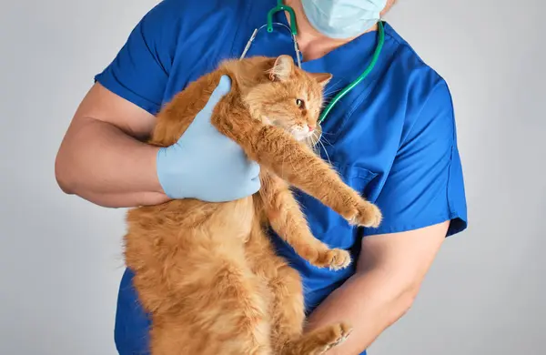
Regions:
<instances>
[{"instance_id":1,"label":"bare forearm from the elbow to the light blue glove's cuff","mask_svg":"<svg viewBox=\"0 0 546 355\"><path fill-rule=\"evenodd\" d=\"M69 128L56 159L66 193L106 207L153 205L167 200L156 173L157 147L92 118Z\"/></svg>"}]
</instances>

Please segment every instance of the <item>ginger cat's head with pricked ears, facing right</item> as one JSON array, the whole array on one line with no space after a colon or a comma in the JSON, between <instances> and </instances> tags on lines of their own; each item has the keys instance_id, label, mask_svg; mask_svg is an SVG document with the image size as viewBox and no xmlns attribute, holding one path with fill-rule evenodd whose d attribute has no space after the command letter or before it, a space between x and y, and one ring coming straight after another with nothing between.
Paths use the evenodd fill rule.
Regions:
<instances>
[{"instance_id":1,"label":"ginger cat's head with pricked ears, facing right","mask_svg":"<svg viewBox=\"0 0 546 355\"><path fill-rule=\"evenodd\" d=\"M331 74L308 73L290 56L278 56L269 63L262 74L266 79L249 88L244 97L252 117L281 127L300 141L317 135L323 89Z\"/></svg>"}]
</instances>

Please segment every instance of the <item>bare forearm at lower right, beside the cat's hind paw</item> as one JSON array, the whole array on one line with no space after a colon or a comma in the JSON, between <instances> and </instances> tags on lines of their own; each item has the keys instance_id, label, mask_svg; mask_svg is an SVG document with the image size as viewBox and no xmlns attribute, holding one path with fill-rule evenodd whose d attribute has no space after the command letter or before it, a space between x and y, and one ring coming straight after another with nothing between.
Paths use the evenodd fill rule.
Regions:
<instances>
[{"instance_id":1,"label":"bare forearm at lower right, beside the cat's hind paw","mask_svg":"<svg viewBox=\"0 0 546 355\"><path fill-rule=\"evenodd\" d=\"M333 292L308 318L308 329L339 321L353 326L348 340L329 350L328 355L358 355L379 334L410 308L413 293L400 287L399 280L371 270L357 274Z\"/></svg>"}]
</instances>

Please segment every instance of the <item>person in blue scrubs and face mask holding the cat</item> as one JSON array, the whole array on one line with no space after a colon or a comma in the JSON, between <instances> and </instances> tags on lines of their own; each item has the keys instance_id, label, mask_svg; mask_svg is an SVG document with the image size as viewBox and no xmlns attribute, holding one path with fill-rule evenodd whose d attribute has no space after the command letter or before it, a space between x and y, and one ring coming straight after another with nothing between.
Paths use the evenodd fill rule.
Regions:
<instances>
[{"instance_id":1,"label":"person in blue scrubs and face mask holding the cat","mask_svg":"<svg viewBox=\"0 0 546 355\"><path fill-rule=\"evenodd\" d=\"M379 45L380 15L393 3L286 0L295 17L276 13L274 31L258 31L245 55L296 58L292 25L303 69L333 74L326 90L331 100L369 67ZM158 149L142 141L160 107L221 60L241 56L276 5L277 0L159 3L79 106L56 160L60 187L109 208L170 198L226 201L258 191L258 166L209 122L212 108L229 91L228 81L177 145ZM381 226L351 228L317 200L298 195L315 236L353 252L354 267L341 271L310 267L272 236L303 277L308 329L340 320L354 325L349 340L329 354L365 353L410 309L446 236L467 226L449 87L391 25L383 26L377 64L322 123L321 151L351 187L377 203ZM117 304L116 346L122 355L147 352L148 320L131 278L126 270Z\"/></svg>"}]
</instances>

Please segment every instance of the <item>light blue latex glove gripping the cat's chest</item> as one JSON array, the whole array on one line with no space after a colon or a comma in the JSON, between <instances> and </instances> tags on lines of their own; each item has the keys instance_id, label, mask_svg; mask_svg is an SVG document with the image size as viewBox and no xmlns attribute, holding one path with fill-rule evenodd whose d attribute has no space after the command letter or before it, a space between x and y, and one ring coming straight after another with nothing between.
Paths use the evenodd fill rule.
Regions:
<instances>
[{"instance_id":1,"label":"light blue latex glove gripping the cat's chest","mask_svg":"<svg viewBox=\"0 0 546 355\"><path fill-rule=\"evenodd\" d=\"M225 202L246 198L260 188L258 163L210 123L217 102L231 88L222 76L207 106L171 147L157 153L157 177L169 198Z\"/></svg>"}]
</instances>

